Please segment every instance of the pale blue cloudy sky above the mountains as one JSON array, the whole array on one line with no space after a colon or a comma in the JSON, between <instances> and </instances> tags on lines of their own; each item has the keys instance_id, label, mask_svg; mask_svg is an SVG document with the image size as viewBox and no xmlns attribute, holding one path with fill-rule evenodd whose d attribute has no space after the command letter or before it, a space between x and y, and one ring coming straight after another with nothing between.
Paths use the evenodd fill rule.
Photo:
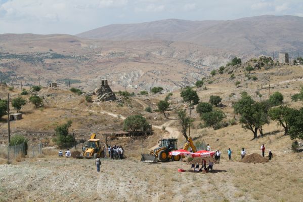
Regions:
<instances>
[{"instance_id":1,"label":"pale blue cloudy sky above the mountains","mask_svg":"<svg viewBox=\"0 0 303 202\"><path fill-rule=\"evenodd\" d=\"M303 0L0 0L0 33L76 34L117 23L268 14L303 17Z\"/></svg>"}]
</instances>

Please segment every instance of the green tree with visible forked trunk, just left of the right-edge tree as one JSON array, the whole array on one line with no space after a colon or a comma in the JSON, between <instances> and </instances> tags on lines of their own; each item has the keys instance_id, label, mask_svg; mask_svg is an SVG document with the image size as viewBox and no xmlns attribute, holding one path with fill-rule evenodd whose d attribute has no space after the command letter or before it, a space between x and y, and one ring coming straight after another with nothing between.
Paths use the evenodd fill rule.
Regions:
<instances>
[{"instance_id":1,"label":"green tree with visible forked trunk, just left of the right-edge tree","mask_svg":"<svg viewBox=\"0 0 303 202\"><path fill-rule=\"evenodd\" d=\"M278 125L284 128L284 135L288 135L291 123L295 122L294 117L297 116L297 112L295 109L279 106L269 110L269 115L272 120L276 120Z\"/></svg>"}]
</instances>

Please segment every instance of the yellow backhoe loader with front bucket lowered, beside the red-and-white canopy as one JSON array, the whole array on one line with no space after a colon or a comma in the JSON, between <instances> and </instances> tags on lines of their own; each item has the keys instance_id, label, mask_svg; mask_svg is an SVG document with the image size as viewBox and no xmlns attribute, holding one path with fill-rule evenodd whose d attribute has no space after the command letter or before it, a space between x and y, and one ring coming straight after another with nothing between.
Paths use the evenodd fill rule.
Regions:
<instances>
[{"instance_id":1,"label":"yellow backhoe loader with front bucket lowered, beside the red-and-white canopy","mask_svg":"<svg viewBox=\"0 0 303 202\"><path fill-rule=\"evenodd\" d=\"M169 155L169 151L174 151L178 149L177 146L178 139L161 139L159 140L159 147L155 148L153 151L150 151L149 154L141 154L141 161L149 163L157 163L158 161L165 162L168 159L178 161L181 159L180 155ZM191 147L193 152L196 152L197 149L193 143L192 138L188 138L187 142L184 144L183 149L188 150Z\"/></svg>"}]
</instances>

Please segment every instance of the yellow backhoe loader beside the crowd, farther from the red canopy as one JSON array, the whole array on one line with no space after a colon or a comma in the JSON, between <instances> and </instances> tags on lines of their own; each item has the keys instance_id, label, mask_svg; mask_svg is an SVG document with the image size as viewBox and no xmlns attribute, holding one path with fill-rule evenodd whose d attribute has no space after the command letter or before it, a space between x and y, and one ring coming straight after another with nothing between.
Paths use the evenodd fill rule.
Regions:
<instances>
[{"instance_id":1,"label":"yellow backhoe loader beside the crowd, farther from the red canopy","mask_svg":"<svg viewBox=\"0 0 303 202\"><path fill-rule=\"evenodd\" d=\"M93 133L88 141L82 144L82 152L78 158L97 158L99 154L100 157L104 157L104 147L105 144L96 139L96 134Z\"/></svg>"}]
</instances>

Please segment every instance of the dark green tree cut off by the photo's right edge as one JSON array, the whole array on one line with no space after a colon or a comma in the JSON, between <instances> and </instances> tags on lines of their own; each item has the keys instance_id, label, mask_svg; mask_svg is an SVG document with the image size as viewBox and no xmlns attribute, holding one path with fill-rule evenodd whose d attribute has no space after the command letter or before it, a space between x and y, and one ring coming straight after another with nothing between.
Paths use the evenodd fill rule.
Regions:
<instances>
[{"instance_id":1,"label":"dark green tree cut off by the photo's right edge","mask_svg":"<svg viewBox=\"0 0 303 202\"><path fill-rule=\"evenodd\" d=\"M303 140L303 108L294 113L294 121L290 123L289 136L292 140L295 138Z\"/></svg>"}]
</instances>

